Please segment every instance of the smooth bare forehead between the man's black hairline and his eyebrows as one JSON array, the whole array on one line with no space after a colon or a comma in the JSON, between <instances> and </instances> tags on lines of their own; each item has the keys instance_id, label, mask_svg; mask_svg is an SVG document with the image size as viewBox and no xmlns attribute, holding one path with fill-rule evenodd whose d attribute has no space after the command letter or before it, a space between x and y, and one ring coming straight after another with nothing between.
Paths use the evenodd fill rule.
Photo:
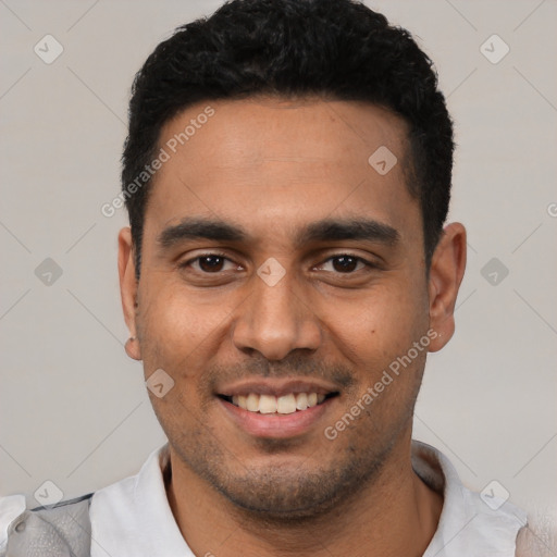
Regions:
<instances>
[{"instance_id":1,"label":"smooth bare forehead between the man's black hairline and his eyebrows","mask_svg":"<svg viewBox=\"0 0 557 557\"><path fill-rule=\"evenodd\" d=\"M286 234L296 221L332 215L366 213L394 227L417 216L406 184L406 124L369 103L198 103L168 122L159 143L166 160L153 180L146 228L210 215L252 228L272 222Z\"/></svg>"}]
</instances>

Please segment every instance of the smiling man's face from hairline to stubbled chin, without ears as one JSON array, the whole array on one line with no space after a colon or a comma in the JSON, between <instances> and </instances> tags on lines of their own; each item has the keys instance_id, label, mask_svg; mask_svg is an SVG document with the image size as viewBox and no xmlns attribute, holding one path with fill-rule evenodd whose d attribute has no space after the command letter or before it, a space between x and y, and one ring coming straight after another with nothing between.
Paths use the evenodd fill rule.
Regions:
<instances>
[{"instance_id":1,"label":"smiling man's face from hairline to stubbled chin, without ears","mask_svg":"<svg viewBox=\"0 0 557 557\"><path fill-rule=\"evenodd\" d=\"M151 395L173 466L244 508L327 508L409 438L431 322L406 133L370 104L269 99L162 131L132 329L146 377L174 381Z\"/></svg>"}]
</instances>

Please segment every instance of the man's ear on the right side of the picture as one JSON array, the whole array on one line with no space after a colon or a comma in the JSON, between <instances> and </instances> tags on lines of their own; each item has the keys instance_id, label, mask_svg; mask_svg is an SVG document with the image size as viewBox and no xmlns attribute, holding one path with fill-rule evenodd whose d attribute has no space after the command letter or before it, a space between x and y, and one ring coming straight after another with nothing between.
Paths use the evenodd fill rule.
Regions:
<instances>
[{"instance_id":1,"label":"man's ear on the right side of the picture","mask_svg":"<svg viewBox=\"0 0 557 557\"><path fill-rule=\"evenodd\" d=\"M458 222L445 227L432 257L429 280L430 327L437 336L429 350L441 350L455 333L455 304L466 268L466 228Z\"/></svg>"}]
</instances>

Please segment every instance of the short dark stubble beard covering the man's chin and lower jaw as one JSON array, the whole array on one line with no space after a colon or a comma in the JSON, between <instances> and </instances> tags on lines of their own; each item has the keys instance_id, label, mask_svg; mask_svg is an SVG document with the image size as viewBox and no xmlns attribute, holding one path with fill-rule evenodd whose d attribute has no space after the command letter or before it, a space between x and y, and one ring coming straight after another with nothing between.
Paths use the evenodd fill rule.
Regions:
<instances>
[{"instance_id":1,"label":"short dark stubble beard covering the man's chin and lower jaw","mask_svg":"<svg viewBox=\"0 0 557 557\"><path fill-rule=\"evenodd\" d=\"M270 462L248 469L215 442L199 443L202 432L187 442L171 440L171 445L182 462L221 494L240 519L287 524L319 520L333 509L337 512L339 507L350 505L358 492L381 475L404 431L400 426L387 441L382 440L363 450L360 444L350 443L327 466L312 468L313 459L300 459L297 465ZM335 442L326 443L331 443L332 453L338 450ZM260 440L259 445L263 453L280 450L284 455L287 442ZM269 458L273 460L272 456ZM231 467L231 462L235 466Z\"/></svg>"}]
</instances>

